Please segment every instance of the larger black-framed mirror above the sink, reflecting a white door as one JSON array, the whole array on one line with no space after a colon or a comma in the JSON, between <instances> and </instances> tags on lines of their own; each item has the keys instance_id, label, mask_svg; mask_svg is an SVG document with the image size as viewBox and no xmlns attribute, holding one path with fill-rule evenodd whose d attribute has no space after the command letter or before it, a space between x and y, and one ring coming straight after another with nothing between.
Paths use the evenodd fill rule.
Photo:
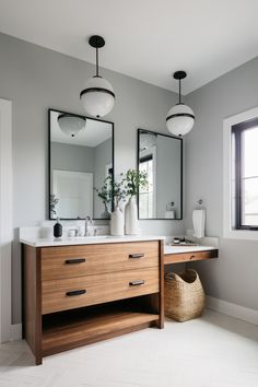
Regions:
<instances>
[{"instance_id":1,"label":"larger black-framed mirror above the sink, reflecting a white door","mask_svg":"<svg viewBox=\"0 0 258 387\"><path fill-rule=\"evenodd\" d=\"M108 219L94 187L113 178L114 125L49 109L49 218Z\"/></svg>"}]
</instances>

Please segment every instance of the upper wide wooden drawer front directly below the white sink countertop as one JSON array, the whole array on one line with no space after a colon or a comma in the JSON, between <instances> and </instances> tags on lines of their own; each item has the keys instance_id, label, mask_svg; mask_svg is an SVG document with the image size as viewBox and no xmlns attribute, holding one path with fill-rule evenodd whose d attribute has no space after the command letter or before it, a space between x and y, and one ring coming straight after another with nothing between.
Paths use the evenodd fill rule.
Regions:
<instances>
[{"instance_id":1,"label":"upper wide wooden drawer front directly below the white sink countertop","mask_svg":"<svg viewBox=\"0 0 258 387\"><path fill-rule=\"evenodd\" d=\"M42 248L43 281L157 266L155 241Z\"/></svg>"}]
</instances>

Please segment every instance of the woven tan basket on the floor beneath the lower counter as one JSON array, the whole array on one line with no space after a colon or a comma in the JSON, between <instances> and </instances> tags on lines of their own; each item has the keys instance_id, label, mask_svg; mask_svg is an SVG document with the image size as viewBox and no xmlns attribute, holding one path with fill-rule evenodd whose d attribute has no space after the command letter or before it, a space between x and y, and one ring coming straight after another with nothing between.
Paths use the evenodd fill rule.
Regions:
<instances>
[{"instance_id":1,"label":"woven tan basket on the floor beneath the lower counter","mask_svg":"<svg viewBox=\"0 0 258 387\"><path fill-rule=\"evenodd\" d=\"M165 315L177 321L200 317L206 295L198 273L188 269L165 275Z\"/></svg>"}]
</instances>

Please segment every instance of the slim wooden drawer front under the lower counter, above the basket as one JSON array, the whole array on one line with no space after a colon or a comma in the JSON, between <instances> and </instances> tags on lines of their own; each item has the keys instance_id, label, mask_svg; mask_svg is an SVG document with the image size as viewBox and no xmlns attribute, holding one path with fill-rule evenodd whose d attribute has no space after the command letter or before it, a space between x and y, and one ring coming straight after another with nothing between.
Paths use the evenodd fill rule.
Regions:
<instances>
[{"instance_id":1,"label":"slim wooden drawer front under the lower counter, above the basket","mask_svg":"<svg viewBox=\"0 0 258 387\"><path fill-rule=\"evenodd\" d=\"M218 258L219 250L195 251L195 253L180 253L180 254L166 254L164 255L164 265L190 262L196 260L206 260Z\"/></svg>"}]
</instances>

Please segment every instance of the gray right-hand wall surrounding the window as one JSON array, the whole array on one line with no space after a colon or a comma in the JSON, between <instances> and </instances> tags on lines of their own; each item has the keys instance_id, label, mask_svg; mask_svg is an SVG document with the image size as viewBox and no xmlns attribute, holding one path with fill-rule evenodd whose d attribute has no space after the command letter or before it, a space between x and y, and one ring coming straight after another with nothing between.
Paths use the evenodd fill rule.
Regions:
<instances>
[{"instance_id":1,"label":"gray right-hand wall surrounding the window","mask_svg":"<svg viewBox=\"0 0 258 387\"><path fill-rule=\"evenodd\" d=\"M258 106L258 58L186 98L196 114L186 138L186 227L198 199L207 208L207 235L221 237L220 258L198 263L208 294L258 309L258 242L222 237L223 119Z\"/></svg>"}]
</instances>

